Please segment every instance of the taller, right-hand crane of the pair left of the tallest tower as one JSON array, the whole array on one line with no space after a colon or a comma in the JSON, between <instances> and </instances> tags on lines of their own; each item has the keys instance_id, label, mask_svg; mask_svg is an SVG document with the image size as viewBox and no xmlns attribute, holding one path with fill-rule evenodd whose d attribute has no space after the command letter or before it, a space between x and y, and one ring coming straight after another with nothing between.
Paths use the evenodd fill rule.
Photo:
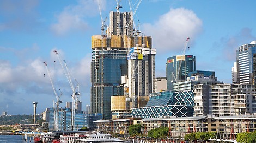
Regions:
<instances>
[{"instance_id":1,"label":"taller, right-hand crane of the pair left of the tallest tower","mask_svg":"<svg viewBox=\"0 0 256 143\"><path fill-rule=\"evenodd\" d=\"M66 78L68 79L69 85L70 85L70 87L72 89L72 92L73 92L72 93L72 111L71 111L71 131L74 131L74 129L75 129L75 99L78 99L77 96L80 95L79 91L76 92L76 90L79 88L79 84L75 80L77 82L77 86L74 87L74 85L72 83L72 80L71 80L71 77L70 77L70 72L69 72L68 66L66 66L66 61L60 59L59 53L56 50L54 50L54 53L56 53L56 55L58 57L59 63L62 66L63 72L66 75ZM63 62L65 63L66 68L64 68Z\"/></svg>"}]
</instances>

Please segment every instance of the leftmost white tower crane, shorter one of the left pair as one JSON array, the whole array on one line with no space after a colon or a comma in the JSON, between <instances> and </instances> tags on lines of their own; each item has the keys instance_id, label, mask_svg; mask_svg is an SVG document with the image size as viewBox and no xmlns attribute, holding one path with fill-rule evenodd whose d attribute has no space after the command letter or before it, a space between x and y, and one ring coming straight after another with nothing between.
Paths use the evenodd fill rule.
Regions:
<instances>
[{"instance_id":1,"label":"leftmost white tower crane, shorter one of the left pair","mask_svg":"<svg viewBox=\"0 0 256 143\"><path fill-rule=\"evenodd\" d=\"M59 99L60 99L60 96L62 96L62 92L60 91L60 95L59 96L57 95L56 89L55 89L55 87L53 85L53 82L52 82L52 77L51 77L51 74L50 74L50 70L48 69L48 66L47 66L46 62L44 62L44 64L45 64L48 76L49 76L51 84L52 84L53 92L54 92L54 94L56 96L56 99L57 99L57 102L55 103L56 104L56 112L55 112L55 108L54 107L53 108L54 108L54 130L58 131L58 129L59 129L59 104L62 103L62 101L60 101ZM54 102L54 100L53 100L53 102Z\"/></svg>"}]
</instances>

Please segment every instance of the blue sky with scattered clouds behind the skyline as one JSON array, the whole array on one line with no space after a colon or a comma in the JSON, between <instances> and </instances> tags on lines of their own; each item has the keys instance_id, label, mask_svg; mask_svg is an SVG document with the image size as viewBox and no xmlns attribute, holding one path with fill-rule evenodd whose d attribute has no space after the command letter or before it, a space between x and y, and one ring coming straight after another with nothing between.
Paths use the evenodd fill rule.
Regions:
<instances>
[{"instance_id":1,"label":"blue sky with scattered clouds behind the skyline","mask_svg":"<svg viewBox=\"0 0 256 143\"><path fill-rule=\"evenodd\" d=\"M131 2L136 7L137 1ZM101 0L103 18L116 5ZM120 5L121 12L130 11L127 0ZM215 71L219 81L231 83L237 47L256 40L255 5L254 0L142 0L134 20L153 38L156 76L166 75L167 57L181 54L190 37L185 54L196 56L196 69ZM0 9L0 112L33 114L34 101L38 113L53 106L56 98L42 62L62 90L60 107L71 102L71 88L53 50L80 83L85 109L90 104L90 40L101 34L97 0L2 0Z\"/></svg>"}]
</instances>

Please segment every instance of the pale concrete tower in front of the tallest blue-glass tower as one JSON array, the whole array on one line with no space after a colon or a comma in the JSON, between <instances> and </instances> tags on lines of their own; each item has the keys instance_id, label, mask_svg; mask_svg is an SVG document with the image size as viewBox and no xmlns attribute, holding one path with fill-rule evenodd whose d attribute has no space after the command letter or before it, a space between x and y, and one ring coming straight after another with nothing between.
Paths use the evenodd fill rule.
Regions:
<instances>
[{"instance_id":1,"label":"pale concrete tower in front of the tallest blue-glass tower","mask_svg":"<svg viewBox=\"0 0 256 143\"><path fill-rule=\"evenodd\" d=\"M151 41L151 37L143 37L144 43ZM142 41L142 43L143 43ZM132 108L144 107L149 100L149 94L155 88L155 54L156 49L142 44L130 49L128 60L128 93L132 100Z\"/></svg>"}]
</instances>

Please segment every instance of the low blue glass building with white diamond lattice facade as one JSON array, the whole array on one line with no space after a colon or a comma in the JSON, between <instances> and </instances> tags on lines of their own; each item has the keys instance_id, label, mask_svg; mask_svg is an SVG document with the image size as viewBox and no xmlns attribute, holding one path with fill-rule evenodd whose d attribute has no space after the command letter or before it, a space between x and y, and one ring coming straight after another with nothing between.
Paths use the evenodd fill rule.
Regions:
<instances>
[{"instance_id":1,"label":"low blue glass building with white diamond lattice facade","mask_svg":"<svg viewBox=\"0 0 256 143\"><path fill-rule=\"evenodd\" d=\"M161 116L193 116L193 106L194 93L192 90L152 93L145 107L132 109L132 117L144 119L160 118Z\"/></svg>"}]
</instances>

